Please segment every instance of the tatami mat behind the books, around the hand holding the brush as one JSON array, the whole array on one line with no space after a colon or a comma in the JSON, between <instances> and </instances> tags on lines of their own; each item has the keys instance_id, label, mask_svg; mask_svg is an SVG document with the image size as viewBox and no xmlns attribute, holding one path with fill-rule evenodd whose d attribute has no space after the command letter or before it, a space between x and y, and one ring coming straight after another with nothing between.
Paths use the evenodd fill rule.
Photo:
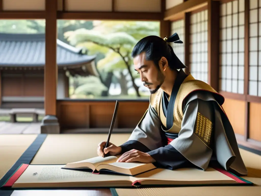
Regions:
<instances>
[{"instance_id":1,"label":"tatami mat behind the books, around the hand holding the brush","mask_svg":"<svg viewBox=\"0 0 261 196\"><path fill-rule=\"evenodd\" d=\"M112 134L110 142L121 145L130 134ZM97 147L108 134L48 135L31 164L66 164L97 157Z\"/></svg>"}]
</instances>

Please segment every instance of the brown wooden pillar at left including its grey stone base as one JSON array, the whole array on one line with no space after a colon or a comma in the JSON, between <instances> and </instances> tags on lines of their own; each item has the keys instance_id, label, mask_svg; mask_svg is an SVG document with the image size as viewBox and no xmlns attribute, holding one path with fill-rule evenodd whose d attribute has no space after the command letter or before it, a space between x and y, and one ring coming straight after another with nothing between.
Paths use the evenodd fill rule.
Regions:
<instances>
[{"instance_id":1,"label":"brown wooden pillar at left including its grey stone base","mask_svg":"<svg viewBox=\"0 0 261 196\"><path fill-rule=\"evenodd\" d=\"M59 134L60 126L56 117L56 88L58 68L57 50L57 0L45 0L45 67L44 67L44 109L41 123L42 134Z\"/></svg>"}]
</instances>

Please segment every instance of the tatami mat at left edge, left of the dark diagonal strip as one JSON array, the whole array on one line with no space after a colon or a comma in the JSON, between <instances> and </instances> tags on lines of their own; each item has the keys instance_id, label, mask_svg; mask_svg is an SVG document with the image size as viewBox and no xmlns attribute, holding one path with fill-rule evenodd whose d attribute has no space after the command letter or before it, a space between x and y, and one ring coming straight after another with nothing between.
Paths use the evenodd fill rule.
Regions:
<instances>
[{"instance_id":1,"label":"tatami mat at left edge, left of the dark diagonal strip","mask_svg":"<svg viewBox=\"0 0 261 196\"><path fill-rule=\"evenodd\" d=\"M36 137L37 135L0 135L0 179Z\"/></svg>"}]
</instances>

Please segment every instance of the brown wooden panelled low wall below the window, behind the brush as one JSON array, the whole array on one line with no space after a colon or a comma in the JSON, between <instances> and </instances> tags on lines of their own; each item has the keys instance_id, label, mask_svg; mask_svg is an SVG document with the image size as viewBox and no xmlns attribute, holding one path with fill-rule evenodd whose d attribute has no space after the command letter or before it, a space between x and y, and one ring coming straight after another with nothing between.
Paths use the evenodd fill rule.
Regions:
<instances>
[{"instance_id":1,"label":"brown wooden panelled low wall below the window, behind the brush","mask_svg":"<svg viewBox=\"0 0 261 196\"><path fill-rule=\"evenodd\" d=\"M149 107L149 101L121 101L115 128L135 128ZM57 100L57 118L61 129L110 128L115 101Z\"/></svg>"}]
</instances>

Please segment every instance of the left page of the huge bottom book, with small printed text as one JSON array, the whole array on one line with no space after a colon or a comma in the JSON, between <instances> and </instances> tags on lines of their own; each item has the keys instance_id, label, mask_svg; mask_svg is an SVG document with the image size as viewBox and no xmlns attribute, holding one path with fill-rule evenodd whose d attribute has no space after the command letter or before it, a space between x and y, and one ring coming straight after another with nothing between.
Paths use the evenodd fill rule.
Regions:
<instances>
[{"instance_id":1,"label":"left page of the huge bottom book, with small printed text","mask_svg":"<svg viewBox=\"0 0 261 196\"><path fill-rule=\"evenodd\" d=\"M91 172L61 169L64 165L29 165L15 184L129 181L129 176L92 174Z\"/></svg>"}]
</instances>

